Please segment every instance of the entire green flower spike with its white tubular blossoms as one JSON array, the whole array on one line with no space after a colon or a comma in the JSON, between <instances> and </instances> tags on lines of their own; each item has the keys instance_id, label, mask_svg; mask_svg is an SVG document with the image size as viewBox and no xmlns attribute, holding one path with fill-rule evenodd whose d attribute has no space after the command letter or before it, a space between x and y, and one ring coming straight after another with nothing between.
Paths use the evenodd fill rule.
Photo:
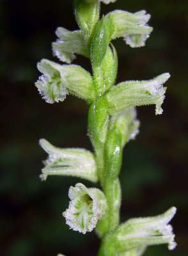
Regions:
<instances>
[{"instance_id":1,"label":"entire green flower spike with its white tubular blossoms","mask_svg":"<svg viewBox=\"0 0 188 256\"><path fill-rule=\"evenodd\" d=\"M141 47L153 29L148 26L150 14L145 10L136 13L115 10L100 19L100 2L115 1L73 0L79 30L56 30L58 40L52 44L54 56L70 64L75 54L81 54L90 59L92 75L78 65L60 65L45 59L37 65L42 76L35 84L46 102L62 101L68 93L86 100L88 136L94 151L57 148L42 139L40 145L49 156L43 161L45 166L40 177L45 180L48 175L71 175L99 181L102 191L86 188L81 183L70 187L70 204L63 212L66 223L82 234L96 227L102 239L98 256L141 256L146 246L152 244L167 243L169 250L175 248L168 223L176 208L159 216L134 218L120 224L119 174L123 147L139 132L136 106L155 104L155 113L162 113L166 92L163 84L170 76L164 73L148 81L115 85L118 56L111 41L123 37L130 47Z\"/></svg>"}]
</instances>

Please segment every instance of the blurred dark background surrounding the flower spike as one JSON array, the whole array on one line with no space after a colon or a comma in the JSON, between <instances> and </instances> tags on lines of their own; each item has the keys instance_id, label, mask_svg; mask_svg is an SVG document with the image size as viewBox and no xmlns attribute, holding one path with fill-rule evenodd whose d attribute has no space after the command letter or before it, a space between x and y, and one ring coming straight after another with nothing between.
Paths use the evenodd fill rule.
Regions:
<instances>
[{"instance_id":1,"label":"blurred dark background surrounding the flower spike","mask_svg":"<svg viewBox=\"0 0 188 256\"><path fill-rule=\"evenodd\" d=\"M85 102L68 96L47 104L35 88L41 58L52 57L51 42L58 26L77 29L71 1L1 0L1 247L2 256L52 256L57 253L97 255L99 239L69 230L61 212L68 207L68 188L85 180L38 176L47 157L40 138L58 147L91 148ZM136 141L125 147L120 180L123 200L121 221L178 209L173 224L178 246L150 246L145 256L185 256L187 245L187 119L188 119L188 1L118 0L102 4L102 13L114 9L151 13L154 30L146 46L132 49L114 41L118 51L117 82L151 79L163 72L171 78L162 108L137 108L141 121ZM75 63L91 70L86 58ZM95 186L95 185L94 185ZM97 185L98 186L98 185Z\"/></svg>"}]
</instances>

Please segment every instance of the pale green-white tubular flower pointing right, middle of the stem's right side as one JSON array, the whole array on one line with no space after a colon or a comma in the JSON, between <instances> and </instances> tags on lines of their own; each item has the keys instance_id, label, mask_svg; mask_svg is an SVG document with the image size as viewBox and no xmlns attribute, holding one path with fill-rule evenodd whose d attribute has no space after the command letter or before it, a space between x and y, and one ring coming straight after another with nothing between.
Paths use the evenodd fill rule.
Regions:
<instances>
[{"instance_id":1,"label":"pale green-white tubular flower pointing right, middle of the stem's right side","mask_svg":"<svg viewBox=\"0 0 188 256\"><path fill-rule=\"evenodd\" d=\"M162 114L162 102L170 75L164 73L148 81L126 81L113 86L106 94L108 113L114 115L132 106L155 104L155 114Z\"/></svg>"}]
</instances>

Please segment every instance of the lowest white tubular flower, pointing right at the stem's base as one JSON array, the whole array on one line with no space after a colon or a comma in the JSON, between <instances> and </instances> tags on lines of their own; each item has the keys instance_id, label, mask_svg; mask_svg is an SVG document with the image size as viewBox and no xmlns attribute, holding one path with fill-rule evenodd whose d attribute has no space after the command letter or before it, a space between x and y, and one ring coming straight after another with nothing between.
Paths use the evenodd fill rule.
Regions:
<instances>
[{"instance_id":1,"label":"lowest white tubular flower, pointing right at the stem's base","mask_svg":"<svg viewBox=\"0 0 188 256\"><path fill-rule=\"evenodd\" d=\"M159 216L134 218L126 221L116 232L119 253L129 252L134 248L153 244L168 244L169 250L176 246L175 235L169 221L175 215L176 208L171 207Z\"/></svg>"}]
</instances>

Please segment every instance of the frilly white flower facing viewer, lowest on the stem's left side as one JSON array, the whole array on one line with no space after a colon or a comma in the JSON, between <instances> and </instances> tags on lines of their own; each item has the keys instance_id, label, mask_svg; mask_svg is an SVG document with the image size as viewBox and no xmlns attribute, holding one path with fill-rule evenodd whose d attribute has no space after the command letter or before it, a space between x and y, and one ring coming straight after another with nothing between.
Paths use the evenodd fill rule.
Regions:
<instances>
[{"instance_id":1,"label":"frilly white flower facing viewer, lowest on the stem's left side","mask_svg":"<svg viewBox=\"0 0 188 256\"><path fill-rule=\"evenodd\" d=\"M106 212L104 193L100 189L86 188L83 184L77 183L75 187L70 187L68 197L71 201L68 209L63 212L66 223L82 234L91 232Z\"/></svg>"}]
</instances>

